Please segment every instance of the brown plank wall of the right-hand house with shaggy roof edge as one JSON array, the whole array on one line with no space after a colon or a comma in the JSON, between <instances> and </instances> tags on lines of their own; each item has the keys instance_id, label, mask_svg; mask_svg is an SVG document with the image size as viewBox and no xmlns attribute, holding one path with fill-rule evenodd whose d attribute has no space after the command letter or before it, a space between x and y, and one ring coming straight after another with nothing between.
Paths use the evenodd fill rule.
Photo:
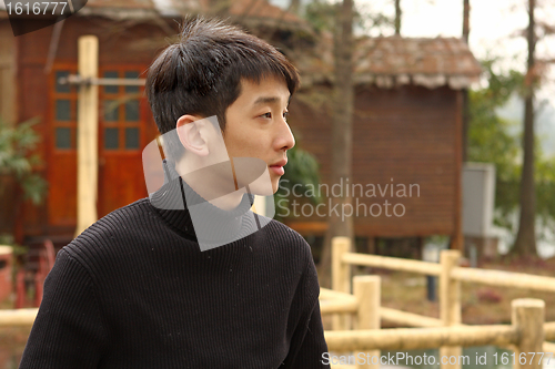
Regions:
<instances>
[{"instance_id":1,"label":"brown plank wall of the right-hand house with shaggy roof edge","mask_svg":"<svg viewBox=\"0 0 555 369\"><path fill-rule=\"evenodd\" d=\"M322 88L319 93L330 95L330 90ZM300 98L293 99L289 122L297 135L299 145L316 155L322 181L331 191L333 184L329 181L333 147L330 137L331 114L327 112L330 104L311 107L303 102L306 98ZM461 139L457 114L457 92L447 88L428 90L410 85L393 90L375 86L357 89L353 177L349 178L349 184L362 184L363 188L362 194L360 186L354 188L356 194L353 205L359 205L355 219L357 235L402 237L455 233L460 211L457 167L461 164L457 153L457 140ZM345 188L346 178L344 184ZM372 192L372 185L375 186L375 193ZM382 186L382 191L389 185L383 196L377 185ZM404 194L403 185L406 188ZM408 192L411 185L412 196ZM325 195L324 192L322 194ZM391 205L385 205L385 201ZM329 213L326 199L320 214ZM393 213L394 205L397 205L396 215L401 216ZM385 214L386 207L390 216ZM276 208L276 212L280 211ZM340 209L337 212L341 214ZM315 214L303 216L310 214L309 206L304 214L301 208L296 213L301 215L300 218L286 222L292 227L303 234L324 232L325 218Z\"/></svg>"}]
</instances>

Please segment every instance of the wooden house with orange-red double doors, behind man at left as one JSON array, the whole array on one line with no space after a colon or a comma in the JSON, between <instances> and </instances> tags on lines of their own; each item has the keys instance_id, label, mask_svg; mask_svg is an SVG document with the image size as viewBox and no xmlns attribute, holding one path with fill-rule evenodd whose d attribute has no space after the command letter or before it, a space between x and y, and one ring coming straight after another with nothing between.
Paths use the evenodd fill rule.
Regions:
<instances>
[{"instance_id":1,"label":"wooden house with orange-red double doors, behind man at left","mask_svg":"<svg viewBox=\"0 0 555 369\"><path fill-rule=\"evenodd\" d=\"M60 246L72 239L77 224L75 86L60 84L78 70L78 39L99 39L99 76L145 78L157 53L179 31L183 14L211 12L208 1L89 0L63 24L13 37L6 8L0 8L0 113L10 124L39 116L36 126L43 160L38 172L48 180L46 201L21 199L13 182L2 178L0 234L14 233L20 244L49 238ZM3 6L3 3L2 3ZM218 16L286 47L292 30L306 25L264 0L238 0ZM32 18L19 27L36 27ZM24 31L24 29L23 29ZM115 102L124 101L122 104ZM139 86L99 86L98 216L148 196L142 148L158 135ZM16 195L14 195L16 194Z\"/></svg>"}]
</instances>

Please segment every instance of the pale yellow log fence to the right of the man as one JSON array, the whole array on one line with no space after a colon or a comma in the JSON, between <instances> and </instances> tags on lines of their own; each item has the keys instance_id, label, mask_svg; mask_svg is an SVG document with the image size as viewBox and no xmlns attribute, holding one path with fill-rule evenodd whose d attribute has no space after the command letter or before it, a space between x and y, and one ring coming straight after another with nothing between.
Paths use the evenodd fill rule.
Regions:
<instances>
[{"instance_id":1,"label":"pale yellow log fence to the right of the man","mask_svg":"<svg viewBox=\"0 0 555 369\"><path fill-rule=\"evenodd\" d=\"M335 362L347 351L355 359L354 366L336 368L377 368L379 350L410 350L440 347L442 368L461 368L461 360L441 361L442 358L464 358L461 347L500 346L515 351L514 367L541 368L541 353L554 352L555 322L544 322L545 304L538 299L512 301L512 325L464 326L461 321L461 283L555 290L555 278L531 276L521 273L484 270L458 267L458 250L443 250L440 264L406 260L393 257L355 254L350 252L350 239L336 237L332 242L332 288L321 290L322 315L333 315L332 330L325 332ZM355 276L351 285L351 266L411 271L437 276L440 279L440 318L431 318L380 306L380 277ZM353 295L351 295L351 289ZM351 315L351 316L350 316ZM410 327L403 329L380 328L380 320L387 319ZM354 328L355 330L351 330ZM475 358L471 358L475 360ZM545 355L544 360L547 359ZM361 362L363 361L363 362ZM501 362L501 361L500 361ZM476 363L476 362L472 362ZM334 368L334 366L332 366Z\"/></svg>"}]
</instances>

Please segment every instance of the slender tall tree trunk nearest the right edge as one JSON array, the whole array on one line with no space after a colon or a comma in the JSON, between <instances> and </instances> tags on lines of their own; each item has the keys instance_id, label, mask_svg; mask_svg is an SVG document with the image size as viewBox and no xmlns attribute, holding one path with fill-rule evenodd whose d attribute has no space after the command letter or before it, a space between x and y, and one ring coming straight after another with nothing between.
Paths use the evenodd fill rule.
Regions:
<instances>
[{"instance_id":1,"label":"slender tall tree trunk nearest the right edge","mask_svg":"<svg viewBox=\"0 0 555 369\"><path fill-rule=\"evenodd\" d=\"M534 88L537 76L535 74L535 48L536 38L534 32L535 0L528 0L528 72L526 75L526 96L524 106L524 162L521 176L521 217L518 222L518 234L513 246L514 255L537 256L536 252L536 186L534 182Z\"/></svg>"}]
</instances>

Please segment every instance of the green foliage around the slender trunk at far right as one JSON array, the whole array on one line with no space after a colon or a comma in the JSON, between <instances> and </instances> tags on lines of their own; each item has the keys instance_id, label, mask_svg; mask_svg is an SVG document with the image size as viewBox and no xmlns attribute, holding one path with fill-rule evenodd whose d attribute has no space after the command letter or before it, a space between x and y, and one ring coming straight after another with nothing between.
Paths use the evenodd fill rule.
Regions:
<instances>
[{"instance_id":1,"label":"green foliage around the slender trunk at far right","mask_svg":"<svg viewBox=\"0 0 555 369\"><path fill-rule=\"evenodd\" d=\"M522 139L511 131L522 123L500 117L496 110L513 94L523 94L525 76L516 71L496 73L494 63L495 60L483 62L487 88L470 92L468 161L495 164L495 224L515 232L512 215L519 207ZM545 158L539 144L535 148L537 215L555 219L555 158Z\"/></svg>"}]
</instances>

